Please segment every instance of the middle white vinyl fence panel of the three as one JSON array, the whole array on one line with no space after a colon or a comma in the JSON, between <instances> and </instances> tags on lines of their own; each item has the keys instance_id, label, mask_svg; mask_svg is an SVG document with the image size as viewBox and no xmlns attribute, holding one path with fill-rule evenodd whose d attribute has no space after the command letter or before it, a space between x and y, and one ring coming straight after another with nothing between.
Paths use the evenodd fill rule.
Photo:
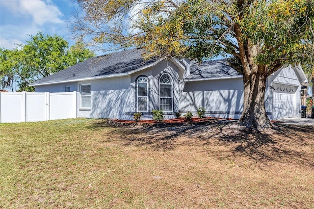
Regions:
<instances>
[{"instance_id":1,"label":"middle white vinyl fence panel of the three","mask_svg":"<svg viewBox=\"0 0 314 209\"><path fill-rule=\"evenodd\" d=\"M26 121L47 120L47 96L49 93L26 93Z\"/></svg>"}]
</instances>

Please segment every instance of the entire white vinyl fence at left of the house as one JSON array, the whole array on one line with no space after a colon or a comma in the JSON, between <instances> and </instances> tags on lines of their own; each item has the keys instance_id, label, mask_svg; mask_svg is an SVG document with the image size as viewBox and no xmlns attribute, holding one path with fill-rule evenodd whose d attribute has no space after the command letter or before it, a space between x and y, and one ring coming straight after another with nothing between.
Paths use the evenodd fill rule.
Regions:
<instances>
[{"instance_id":1,"label":"entire white vinyl fence at left of the house","mask_svg":"<svg viewBox=\"0 0 314 209\"><path fill-rule=\"evenodd\" d=\"M76 96L76 92L0 93L0 123L76 118Z\"/></svg>"}]
</instances>

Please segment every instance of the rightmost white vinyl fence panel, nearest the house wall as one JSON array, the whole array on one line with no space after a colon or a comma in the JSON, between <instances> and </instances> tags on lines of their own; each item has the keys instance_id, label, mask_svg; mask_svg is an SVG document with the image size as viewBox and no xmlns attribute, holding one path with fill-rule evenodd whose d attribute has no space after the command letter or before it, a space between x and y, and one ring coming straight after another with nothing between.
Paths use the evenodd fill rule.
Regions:
<instances>
[{"instance_id":1,"label":"rightmost white vinyl fence panel, nearest the house wall","mask_svg":"<svg viewBox=\"0 0 314 209\"><path fill-rule=\"evenodd\" d=\"M50 94L50 120L76 118L76 93Z\"/></svg>"}]
</instances>

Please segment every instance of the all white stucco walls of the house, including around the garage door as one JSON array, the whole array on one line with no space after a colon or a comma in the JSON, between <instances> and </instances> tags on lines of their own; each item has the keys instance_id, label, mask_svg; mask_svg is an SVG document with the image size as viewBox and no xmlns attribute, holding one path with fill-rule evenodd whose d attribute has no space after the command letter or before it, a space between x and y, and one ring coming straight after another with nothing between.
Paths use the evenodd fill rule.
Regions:
<instances>
[{"instance_id":1,"label":"all white stucco walls of the house, including around the garage door","mask_svg":"<svg viewBox=\"0 0 314 209\"><path fill-rule=\"evenodd\" d=\"M136 109L136 79L139 76L148 78L149 104L147 113L142 119L152 119L151 111L158 109L159 78L161 73L168 73L173 81L173 111L165 112L166 118L174 118L177 111L191 110L196 115L199 107L205 107L206 115L219 118L239 118L243 110L243 80L242 78L186 81L183 70L170 60L159 62L156 66L144 69L124 77L104 78L84 82L72 82L53 85L36 86L36 92L63 92L64 86L70 86L71 91L77 91L77 117L117 118L132 120ZM295 70L287 67L278 70L267 78L265 90L266 112L272 118L272 92L269 86L273 84L293 85L296 87L295 115L300 116L301 104L299 78ZM79 86L91 85L91 108L81 108Z\"/></svg>"}]
</instances>

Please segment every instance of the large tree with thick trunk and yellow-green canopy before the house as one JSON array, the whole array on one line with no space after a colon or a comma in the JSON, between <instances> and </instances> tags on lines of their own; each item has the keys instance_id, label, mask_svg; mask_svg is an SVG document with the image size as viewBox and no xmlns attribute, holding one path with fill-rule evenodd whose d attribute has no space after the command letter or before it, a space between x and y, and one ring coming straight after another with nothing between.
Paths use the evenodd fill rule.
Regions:
<instances>
[{"instance_id":1,"label":"large tree with thick trunk and yellow-green canopy before the house","mask_svg":"<svg viewBox=\"0 0 314 209\"><path fill-rule=\"evenodd\" d=\"M266 78L313 55L314 0L78 0L84 15L72 29L107 48L140 46L147 56L199 62L232 56L243 75L239 124L271 126Z\"/></svg>"}]
</instances>

